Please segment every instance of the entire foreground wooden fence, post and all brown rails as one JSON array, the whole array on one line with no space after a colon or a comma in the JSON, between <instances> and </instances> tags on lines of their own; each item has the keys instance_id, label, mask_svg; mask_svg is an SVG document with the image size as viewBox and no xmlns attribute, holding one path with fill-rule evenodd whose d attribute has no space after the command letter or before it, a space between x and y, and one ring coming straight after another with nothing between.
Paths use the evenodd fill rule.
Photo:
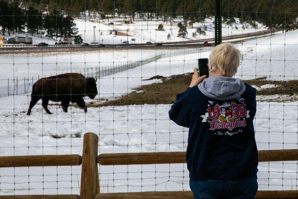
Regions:
<instances>
[{"instance_id":1,"label":"entire foreground wooden fence, post and all brown rails","mask_svg":"<svg viewBox=\"0 0 298 199\"><path fill-rule=\"evenodd\" d=\"M98 163L100 165L168 164L186 163L185 152L114 153L100 154L98 136L86 133L83 139L83 155L28 155L2 156L0 167L18 166L76 166L82 164L79 195L10 195L0 199L99 199L99 198L193 198L191 191L100 193ZM258 151L259 162L298 161L298 149ZM298 190L258 191L255 198L298 198Z\"/></svg>"}]
</instances>

